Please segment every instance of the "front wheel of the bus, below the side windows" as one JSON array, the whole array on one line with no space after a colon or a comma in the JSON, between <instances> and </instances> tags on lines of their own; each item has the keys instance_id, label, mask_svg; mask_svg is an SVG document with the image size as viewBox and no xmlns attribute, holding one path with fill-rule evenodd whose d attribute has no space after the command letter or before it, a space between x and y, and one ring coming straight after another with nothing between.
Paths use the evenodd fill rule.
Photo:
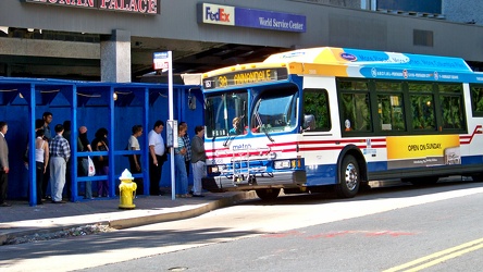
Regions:
<instances>
[{"instance_id":1,"label":"front wheel of the bus, below the side windows","mask_svg":"<svg viewBox=\"0 0 483 272\"><path fill-rule=\"evenodd\" d=\"M340 198L351 198L357 195L360 186L360 171L354 156L346 156L340 164L338 184L335 185L335 193Z\"/></svg>"}]
</instances>

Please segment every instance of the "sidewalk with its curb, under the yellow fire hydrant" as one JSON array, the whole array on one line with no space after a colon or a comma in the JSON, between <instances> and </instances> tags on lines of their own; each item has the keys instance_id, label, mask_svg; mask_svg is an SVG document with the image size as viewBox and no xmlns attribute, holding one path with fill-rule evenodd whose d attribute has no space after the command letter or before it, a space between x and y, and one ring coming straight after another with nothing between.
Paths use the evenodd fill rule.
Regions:
<instances>
[{"instance_id":1,"label":"sidewalk with its curb, under the yellow fire hydrant","mask_svg":"<svg viewBox=\"0 0 483 272\"><path fill-rule=\"evenodd\" d=\"M0 245L12 237L35 233L62 231L89 224L126 228L152 223L198 217L228 207L244 199L257 198L253 191L207 193L203 198L138 196L133 210L119 209L119 198L98 198L81 202L50 203L30 207L26 201L9 201L12 207L0 207Z\"/></svg>"}]
</instances>

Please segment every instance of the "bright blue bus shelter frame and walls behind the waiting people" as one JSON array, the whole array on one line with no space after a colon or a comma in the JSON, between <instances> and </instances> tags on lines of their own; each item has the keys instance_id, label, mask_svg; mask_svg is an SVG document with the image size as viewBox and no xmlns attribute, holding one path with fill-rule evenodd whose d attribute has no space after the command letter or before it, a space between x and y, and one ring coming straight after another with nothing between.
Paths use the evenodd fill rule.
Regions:
<instances>
[{"instance_id":1,"label":"bright blue bus shelter frame and walls behind the waiting people","mask_svg":"<svg viewBox=\"0 0 483 272\"><path fill-rule=\"evenodd\" d=\"M55 124L71 121L71 200L83 199L79 188L85 182L108 181L109 195L115 196L119 176L128 169L125 154L140 154L143 171L134 174L141 177L144 194L149 193L149 148L148 133L157 120L166 121L169 116L168 84L152 83L99 83L38 78L0 77L0 120L9 124L5 135L9 144L9 198L28 196L30 206L36 205L35 166L25 168L22 156L26 145L35 145L35 120L44 112L51 112L52 134ZM202 95L199 86L173 85L174 119L185 121L191 127L202 125ZM125 150L132 135L133 125L143 125L144 134L138 138L141 150ZM108 129L108 151L78 152L78 127L88 127L88 138L100 127ZM194 133L191 132L191 135ZM165 139L165 133L163 134ZM108 175L79 176L77 158L86 156L107 156ZM168 161L163 168L162 183L170 184ZM28 150L28 165L35 165L35 149ZM64 191L67 188L64 188ZM81 194L79 194L81 193Z\"/></svg>"}]
</instances>

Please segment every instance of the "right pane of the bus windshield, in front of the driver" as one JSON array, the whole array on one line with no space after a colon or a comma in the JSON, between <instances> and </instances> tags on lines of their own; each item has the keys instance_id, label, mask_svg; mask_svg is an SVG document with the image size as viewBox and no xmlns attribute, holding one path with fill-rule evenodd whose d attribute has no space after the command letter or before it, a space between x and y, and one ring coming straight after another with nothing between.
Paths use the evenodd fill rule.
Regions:
<instances>
[{"instance_id":1,"label":"right pane of the bus windshield, in front of the driver","mask_svg":"<svg viewBox=\"0 0 483 272\"><path fill-rule=\"evenodd\" d=\"M256 101L252 133L292 131L297 125L297 88L270 89Z\"/></svg>"}]
</instances>

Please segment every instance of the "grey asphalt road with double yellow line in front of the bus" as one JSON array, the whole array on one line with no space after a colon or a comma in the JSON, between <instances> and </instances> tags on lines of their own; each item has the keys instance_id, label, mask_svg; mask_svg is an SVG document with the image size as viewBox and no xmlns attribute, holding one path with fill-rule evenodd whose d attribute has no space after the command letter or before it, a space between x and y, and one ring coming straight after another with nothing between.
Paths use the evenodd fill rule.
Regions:
<instances>
[{"instance_id":1,"label":"grey asphalt road with double yellow line in front of the bus","mask_svg":"<svg viewBox=\"0 0 483 272\"><path fill-rule=\"evenodd\" d=\"M482 183L443 183L344 200L255 200L189 220L1 247L0 270L480 271L482 196Z\"/></svg>"}]
</instances>

